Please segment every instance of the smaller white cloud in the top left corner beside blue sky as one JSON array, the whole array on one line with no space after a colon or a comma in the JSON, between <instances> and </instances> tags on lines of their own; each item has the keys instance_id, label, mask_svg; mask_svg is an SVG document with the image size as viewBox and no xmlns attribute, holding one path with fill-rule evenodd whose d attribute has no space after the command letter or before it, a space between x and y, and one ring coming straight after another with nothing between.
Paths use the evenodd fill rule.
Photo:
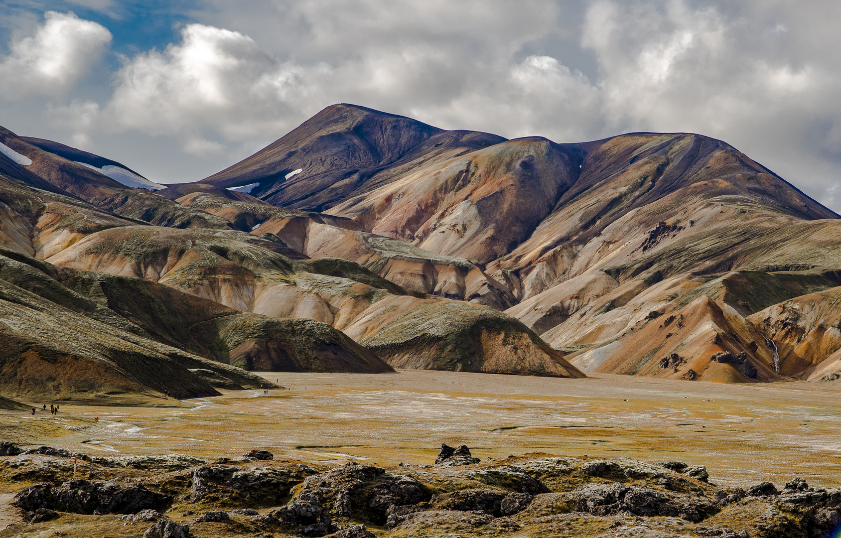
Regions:
<instances>
[{"instance_id":1,"label":"smaller white cloud in the top left corner beside blue sky","mask_svg":"<svg viewBox=\"0 0 841 538\"><path fill-rule=\"evenodd\" d=\"M48 11L34 35L13 42L0 58L0 87L12 97L61 95L98 63L110 42L103 25Z\"/></svg>"}]
</instances>

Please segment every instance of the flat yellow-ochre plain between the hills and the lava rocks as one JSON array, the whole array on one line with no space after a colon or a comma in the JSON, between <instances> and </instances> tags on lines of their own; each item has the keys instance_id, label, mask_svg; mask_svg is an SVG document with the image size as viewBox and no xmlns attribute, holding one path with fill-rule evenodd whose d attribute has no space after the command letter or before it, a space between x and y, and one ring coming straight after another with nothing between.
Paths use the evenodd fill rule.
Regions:
<instances>
[{"instance_id":1,"label":"flat yellow-ochre plain between the hills and the lava rocks","mask_svg":"<svg viewBox=\"0 0 841 538\"><path fill-rule=\"evenodd\" d=\"M58 416L0 415L0 439L88 454L251 448L309 462L431 463L442 442L479 458L546 452L705 465L710 481L841 485L836 383L725 385L401 370L274 373L288 390L225 392L167 407L61 403ZM49 403L47 403L49 407Z\"/></svg>"}]
</instances>

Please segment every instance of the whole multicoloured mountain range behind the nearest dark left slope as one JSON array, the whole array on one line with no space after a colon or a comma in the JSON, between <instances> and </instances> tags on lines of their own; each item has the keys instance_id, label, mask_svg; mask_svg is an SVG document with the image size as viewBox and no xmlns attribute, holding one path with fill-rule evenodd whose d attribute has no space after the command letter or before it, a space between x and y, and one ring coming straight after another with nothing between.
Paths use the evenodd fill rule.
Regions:
<instances>
[{"instance_id":1,"label":"whole multicoloured mountain range behind the nearest dark left slope","mask_svg":"<svg viewBox=\"0 0 841 538\"><path fill-rule=\"evenodd\" d=\"M0 138L20 157L0 155L14 208L2 244L76 275L56 282L132 334L204 360L720 382L841 372L841 219L721 140L505 140L337 104L152 192L101 173L128 170L116 161ZM314 351L328 340L344 359Z\"/></svg>"}]
</instances>

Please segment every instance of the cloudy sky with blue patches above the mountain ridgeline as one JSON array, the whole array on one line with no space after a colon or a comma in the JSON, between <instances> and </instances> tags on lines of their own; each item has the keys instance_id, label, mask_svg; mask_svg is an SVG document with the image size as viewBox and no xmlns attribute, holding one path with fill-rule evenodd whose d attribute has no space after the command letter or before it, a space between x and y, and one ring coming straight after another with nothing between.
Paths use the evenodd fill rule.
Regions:
<instances>
[{"instance_id":1,"label":"cloudy sky with blue patches above the mountain ridgeline","mask_svg":"<svg viewBox=\"0 0 841 538\"><path fill-rule=\"evenodd\" d=\"M0 125L191 182L333 103L506 138L692 132L841 213L841 3L0 0Z\"/></svg>"}]
</instances>

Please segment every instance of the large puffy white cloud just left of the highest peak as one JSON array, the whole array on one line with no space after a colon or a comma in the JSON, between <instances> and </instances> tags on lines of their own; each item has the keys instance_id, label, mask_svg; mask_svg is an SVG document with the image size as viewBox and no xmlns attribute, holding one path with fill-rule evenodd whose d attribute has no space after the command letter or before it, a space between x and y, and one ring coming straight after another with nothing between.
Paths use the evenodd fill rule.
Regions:
<instances>
[{"instance_id":1,"label":"large puffy white cloud just left of the highest peak","mask_svg":"<svg viewBox=\"0 0 841 538\"><path fill-rule=\"evenodd\" d=\"M180 43L125 58L103 114L124 129L187 135L184 149L203 155L228 140L287 128L291 108L307 90L299 66L283 64L239 32L188 24ZM310 70L317 72L315 70Z\"/></svg>"}]
</instances>

